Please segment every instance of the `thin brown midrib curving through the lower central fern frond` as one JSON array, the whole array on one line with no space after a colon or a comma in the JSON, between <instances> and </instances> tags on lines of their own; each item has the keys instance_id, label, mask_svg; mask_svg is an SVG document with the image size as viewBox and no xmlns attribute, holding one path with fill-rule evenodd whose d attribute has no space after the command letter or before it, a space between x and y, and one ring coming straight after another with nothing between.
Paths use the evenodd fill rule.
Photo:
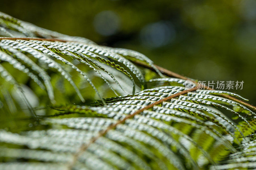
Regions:
<instances>
[{"instance_id":1,"label":"thin brown midrib curving through the lower central fern frond","mask_svg":"<svg viewBox=\"0 0 256 170\"><path fill-rule=\"evenodd\" d=\"M146 106L146 107L143 107L143 108L140 109L140 110L137 110L137 111L134 112L133 114L126 116L124 119L122 119L122 120L120 120L120 121L118 121L118 122L116 122L116 123L114 123L114 124L111 124L110 126L108 126L107 129L105 129L105 130L103 130L103 131L100 131L99 134L98 134L98 136L93 137L93 138L91 139L91 141L90 141L88 144L83 144L83 145L79 148L78 152L76 152L76 153L74 154L74 156L73 156L73 161L71 162L71 164L69 164L68 168L69 168L69 169L72 169L72 167L73 167L74 164L76 163L78 157L79 157L84 151L86 151L86 149L87 149L92 143L94 143L94 142L95 142L97 139L99 139L100 137L106 135L109 130L115 129L117 125L124 123L127 119L133 118L135 115L140 114L140 113L143 112L144 110L150 109L150 108L152 108L152 107L154 107L154 106L156 106L156 105L159 105L159 104L163 103L164 101L171 100L172 98L179 97L180 95L187 94L188 92L195 91L196 89L197 89L197 86L194 87L194 88L192 88L192 89L184 90L184 91L178 92L178 93L176 93L176 94L173 94L173 95L171 95L171 96L168 96L168 97L166 97L166 98L164 98L164 99L158 100L158 101L156 101L156 102L154 102L154 103L152 103L152 104L150 104L150 105L148 105L148 106Z\"/></svg>"}]
</instances>

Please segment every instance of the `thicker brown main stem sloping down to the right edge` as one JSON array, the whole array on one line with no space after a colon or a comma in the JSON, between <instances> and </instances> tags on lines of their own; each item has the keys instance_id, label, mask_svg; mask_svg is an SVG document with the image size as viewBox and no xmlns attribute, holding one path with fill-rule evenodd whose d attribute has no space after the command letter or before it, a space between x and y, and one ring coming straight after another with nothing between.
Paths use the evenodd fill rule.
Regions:
<instances>
[{"instance_id":1,"label":"thicker brown main stem sloping down to the right edge","mask_svg":"<svg viewBox=\"0 0 256 170\"><path fill-rule=\"evenodd\" d=\"M152 68L151 66L149 66L149 65L147 65L147 64L145 64L145 63L142 63L142 62L139 62L139 61L132 61L132 62L135 63L135 64L137 64L137 65L140 65L141 67L144 67L144 68L147 68L147 69L150 69L150 70L156 72L156 70L154 70L154 68ZM187 77L181 76L181 75L178 74L178 73L175 73L175 72L172 72L172 71L170 71L170 70L164 69L163 67L160 67L160 66L155 65L155 64L154 64L154 66L155 66L158 70L160 70L161 73L163 73L163 74L166 75L166 76L175 77L175 78L181 78L181 79L185 79L185 80L190 80L190 81L192 81L193 83L195 83L196 85L199 85L196 81L194 81L194 80L191 79L191 78L187 78ZM212 89L212 88L210 88L210 87L208 87L208 86L206 86L206 85L203 85L203 87L204 87L204 89L214 90L214 89ZM242 101L242 100L236 99L236 98L234 98L234 97L232 97L232 96L229 96L229 95L226 95L226 94L219 94L219 95L222 96L222 97L225 97L225 98L227 98L227 99L236 101L237 103L240 103L241 105L244 105L245 107L250 108L250 109L251 109L252 111L254 111L254 112L256 111L256 107L255 107L255 106L252 106L252 105L249 104L249 103L246 103L246 102L244 102L244 101Z\"/></svg>"}]
</instances>

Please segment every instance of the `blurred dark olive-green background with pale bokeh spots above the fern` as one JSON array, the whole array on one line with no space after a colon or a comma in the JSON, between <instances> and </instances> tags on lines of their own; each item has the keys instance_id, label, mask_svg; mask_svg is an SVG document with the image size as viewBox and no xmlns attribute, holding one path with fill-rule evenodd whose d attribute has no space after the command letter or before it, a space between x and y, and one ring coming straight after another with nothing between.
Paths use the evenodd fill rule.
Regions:
<instances>
[{"instance_id":1,"label":"blurred dark olive-green background with pale bokeh spots above the fern","mask_svg":"<svg viewBox=\"0 0 256 170\"><path fill-rule=\"evenodd\" d=\"M256 105L255 0L0 1L0 11L100 45L129 48L201 81L244 81L229 90Z\"/></svg>"}]
</instances>

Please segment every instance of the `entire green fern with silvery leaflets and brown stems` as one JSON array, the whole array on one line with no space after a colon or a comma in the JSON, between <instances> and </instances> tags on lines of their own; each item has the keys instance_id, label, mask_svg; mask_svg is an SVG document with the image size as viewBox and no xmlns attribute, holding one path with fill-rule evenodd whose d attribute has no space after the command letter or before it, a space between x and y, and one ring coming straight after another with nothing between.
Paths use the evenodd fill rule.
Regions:
<instances>
[{"instance_id":1,"label":"entire green fern with silvery leaflets and brown stems","mask_svg":"<svg viewBox=\"0 0 256 170\"><path fill-rule=\"evenodd\" d=\"M0 33L0 169L256 168L243 97L4 13Z\"/></svg>"}]
</instances>

